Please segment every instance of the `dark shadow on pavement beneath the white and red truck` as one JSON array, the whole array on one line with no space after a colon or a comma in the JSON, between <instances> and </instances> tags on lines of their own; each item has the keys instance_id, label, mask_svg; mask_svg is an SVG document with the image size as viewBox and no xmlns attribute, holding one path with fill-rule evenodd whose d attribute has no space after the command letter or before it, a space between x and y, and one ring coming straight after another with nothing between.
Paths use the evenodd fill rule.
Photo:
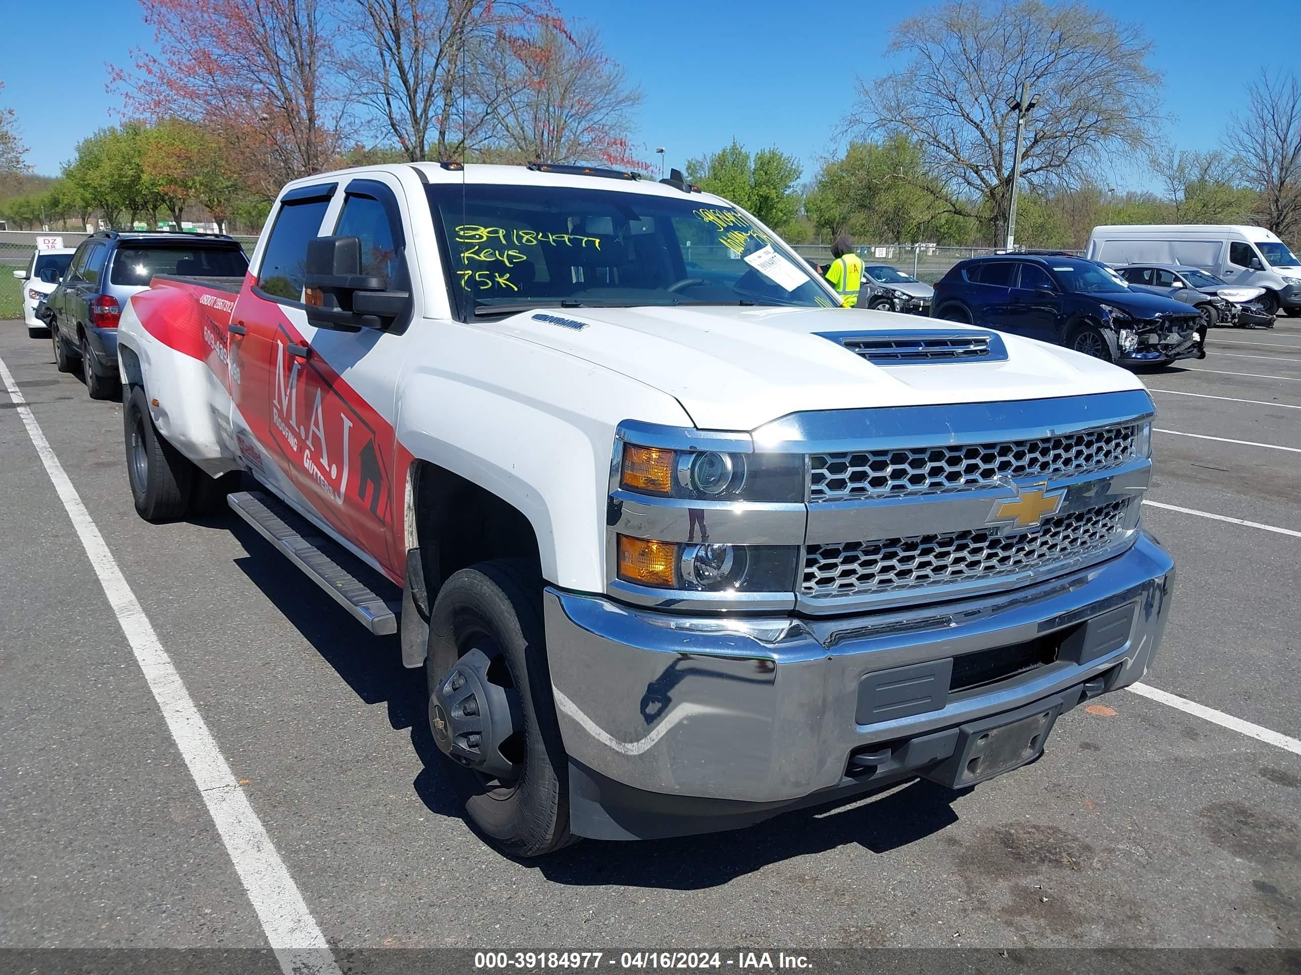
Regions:
<instances>
[{"instance_id":1,"label":"dark shadow on pavement beneath the white and red truck","mask_svg":"<svg viewBox=\"0 0 1301 975\"><path fill-rule=\"evenodd\" d=\"M424 764L412 783L433 814L463 820L445 759L427 722L424 672L401 663L397 637L372 637L325 593L298 572L239 519L222 523L243 545L235 564L285 615L366 705L388 705L389 724L411 733ZM907 846L958 822L952 802L961 793L926 780L855 797L850 805L814 806L745 829L645 842L585 840L520 866L558 884L618 884L674 890L718 887L792 857L859 844L872 853ZM488 852L485 849L485 855ZM490 854L500 855L500 854Z\"/></svg>"}]
</instances>

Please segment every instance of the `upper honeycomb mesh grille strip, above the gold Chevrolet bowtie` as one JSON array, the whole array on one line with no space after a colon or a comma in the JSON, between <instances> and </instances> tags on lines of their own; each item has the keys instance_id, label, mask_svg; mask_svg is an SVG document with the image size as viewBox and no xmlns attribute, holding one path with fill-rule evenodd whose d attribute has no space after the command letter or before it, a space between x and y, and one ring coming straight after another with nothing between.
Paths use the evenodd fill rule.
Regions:
<instances>
[{"instance_id":1,"label":"upper honeycomb mesh grille strip, above the gold Chevrolet bowtie","mask_svg":"<svg viewBox=\"0 0 1301 975\"><path fill-rule=\"evenodd\" d=\"M864 450L809 458L809 502L892 498L987 488L1002 478L1068 477L1133 456L1138 426L1103 426L1004 443Z\"/></svg>"}]
</instances>

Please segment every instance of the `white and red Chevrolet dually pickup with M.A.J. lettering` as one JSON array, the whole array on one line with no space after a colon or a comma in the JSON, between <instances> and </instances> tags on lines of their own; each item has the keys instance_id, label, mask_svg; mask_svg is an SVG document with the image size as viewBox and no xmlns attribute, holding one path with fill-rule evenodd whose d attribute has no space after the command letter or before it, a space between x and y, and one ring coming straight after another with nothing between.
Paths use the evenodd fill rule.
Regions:
<instances>
[{"instance_id":1,"label":"white and red Chevrolet dually pickup with M.A.J. lettering","mask_svg":"<svg viewBox=\"0 0 1301 975\"><path fill-rule=\"evenodd\" d=\"M1164 629L1137 378L838 307L677 173L298 179L246 277L157 277L118 335L141 515L224 499L399 633L514 855L967 788Z\"/></svg>"}]
</instances>

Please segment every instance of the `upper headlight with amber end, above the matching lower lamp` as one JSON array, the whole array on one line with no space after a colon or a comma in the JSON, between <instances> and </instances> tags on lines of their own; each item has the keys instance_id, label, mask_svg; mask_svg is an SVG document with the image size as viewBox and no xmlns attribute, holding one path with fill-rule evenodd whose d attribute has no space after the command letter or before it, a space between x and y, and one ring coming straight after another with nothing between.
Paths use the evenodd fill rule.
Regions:
<instances>
[{"instance_id":1,"label":"upper headlight with amber end, above the matching lower lamp","mask_svg":"<svg viewBox=\"0 0 1301 975\"><path fill-rule=\"evenodd\" d=\"M623 445L619 488L700 500L804 500L803 454L742 454Z\"/></svg>"}]
</instances>

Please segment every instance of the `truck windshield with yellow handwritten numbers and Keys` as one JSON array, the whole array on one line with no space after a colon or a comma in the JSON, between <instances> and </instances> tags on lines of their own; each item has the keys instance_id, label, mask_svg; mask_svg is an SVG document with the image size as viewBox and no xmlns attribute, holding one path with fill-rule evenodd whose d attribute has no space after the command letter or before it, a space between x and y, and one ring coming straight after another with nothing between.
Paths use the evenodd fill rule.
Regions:
<instances>
[{"instance_id":1,"label":"truck windshield with yellow handwritten numbers and Keys","mask_svg":"<svg viewBox=\"0 0 1301 975\"><path fill-rule=\"evenodd\" d=\"M523 307L833 307L808 265L744 213L683 194L431 186L462 317Z\"/></svg>"}]
</instances>

